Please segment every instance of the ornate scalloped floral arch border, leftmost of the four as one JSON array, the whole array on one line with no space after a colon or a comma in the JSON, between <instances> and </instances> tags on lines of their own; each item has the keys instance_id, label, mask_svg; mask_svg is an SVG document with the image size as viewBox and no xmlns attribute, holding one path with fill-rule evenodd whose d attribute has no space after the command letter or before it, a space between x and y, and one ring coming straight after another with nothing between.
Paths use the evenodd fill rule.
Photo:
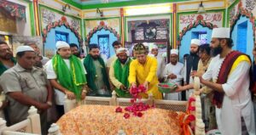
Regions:
<instances>
[{"instance_id":1,"label":"ornate scalloped floral arch border, leftmost of the four","mask_svg":"<svg viewBox=\"0 0 256 135\"><path fill-rule=\"evenodd\" d=\"M79 31L76 31L76 29L74 29L73 26L69 25L69 23L67 22L67 18L65 16L62 16L61 20L59 20L59 21L55 21L55 22L52 22L52 23L49 23L48 25L46 25L46 27L43 29L43 32L42 32L43 42L46 42L47 33L52 28L55 28L56 26L61 26L61 25L64 25L67 29L72 31L75 34L76 37L78 37L79 45L80 45L80 47L82 47L83 46L83 39L79 35Z\"/></svg>"}]
</instances>

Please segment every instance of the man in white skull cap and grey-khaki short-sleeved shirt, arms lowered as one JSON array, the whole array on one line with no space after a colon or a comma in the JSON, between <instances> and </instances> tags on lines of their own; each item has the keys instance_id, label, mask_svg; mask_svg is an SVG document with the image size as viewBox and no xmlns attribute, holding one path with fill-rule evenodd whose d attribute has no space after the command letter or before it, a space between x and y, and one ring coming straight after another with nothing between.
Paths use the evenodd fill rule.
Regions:
<instances>
[{"instance_id":1,"label":"man in white skull cap and grey-khaki short-sleeved shirt, arms lowered","mask_svg":"<svg viewBox=\"0 0 256 135\"><path fill-rule=\"evenodd\" d=\"M42 132L47 131L47 110L51 105L52 89L44 70L34 67L36 53L29 46L16 48L17 64L0 77L0 85L9 101L8 125L16 124L27 117L30 106L40 110Z\"/></svg>"}]
</instances>

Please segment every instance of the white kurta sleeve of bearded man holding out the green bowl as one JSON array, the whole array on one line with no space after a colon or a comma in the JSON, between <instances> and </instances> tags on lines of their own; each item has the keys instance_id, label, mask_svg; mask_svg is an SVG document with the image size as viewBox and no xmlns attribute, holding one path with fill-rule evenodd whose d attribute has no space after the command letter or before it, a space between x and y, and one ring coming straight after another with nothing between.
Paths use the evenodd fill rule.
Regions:
<instances>
[{"instance_id":1,"label":"white kurta sleeve of bearded man holding out the green bowl","mask_svg":"<svg viewBox=\"0 0 256 135\"><path fill-rule=\"evenodd\" d=\"M247 63L247 61L242 61L239 65L237 65L236 69L230 73L227 82L222 85L224 93L228 97L233 96L237 93L237 91L240 90L240 88L237 87L249 85L246 84L246 81L249 79L249 69L250 64Z\"/></svg>"}]
</instances>

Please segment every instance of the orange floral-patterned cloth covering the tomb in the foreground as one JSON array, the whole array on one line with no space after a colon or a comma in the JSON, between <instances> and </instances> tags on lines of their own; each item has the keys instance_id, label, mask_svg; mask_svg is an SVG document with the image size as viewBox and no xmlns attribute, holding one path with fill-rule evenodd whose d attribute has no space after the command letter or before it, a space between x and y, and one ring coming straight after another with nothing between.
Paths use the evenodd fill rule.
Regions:
<instances>
[{"instance_id":1,"label":"orange floral-patterned cloth covering the tomb in the foreground","mask_svg":"<svg viewBox=\"0 0 256 135\"><path fill-rule=\"evenodd\" d=\"M149 109L143 117L124 118L116 106L81 105L63 115L57 125L63 135L116 135L122 129L127 135L179 135L178 114L172 110Z\"/></svg>"}]
</instances>

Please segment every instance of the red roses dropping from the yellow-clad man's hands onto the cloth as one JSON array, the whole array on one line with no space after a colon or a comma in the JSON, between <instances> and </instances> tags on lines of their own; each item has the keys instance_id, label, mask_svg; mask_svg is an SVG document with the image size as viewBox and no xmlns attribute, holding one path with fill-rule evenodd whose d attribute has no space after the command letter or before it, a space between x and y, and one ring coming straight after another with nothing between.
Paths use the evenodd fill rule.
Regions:
<instances>
[{"instance_id":1,"label":"red roses dropping from the yellow-clad man's hands onto the cloth","mask_svg":"<svg viewBox=\"0 0 256 135\"><path fill-rule=\"evenodd\" d=\"M139 87L131 87L130 93L131 93L131 106L125 107L125 119L128 119L130 117L130 114L142 117L143 113L142 111L150 109L150 106L148 104L143 104L141 101L142 96L139 95L139 93L146 93L147 89L143 85L140 85ZM138 100L138 102L137 102ZM122 113L123 109L119 106L115 109L115 112Z\"/></svg>"}]
</instances>

